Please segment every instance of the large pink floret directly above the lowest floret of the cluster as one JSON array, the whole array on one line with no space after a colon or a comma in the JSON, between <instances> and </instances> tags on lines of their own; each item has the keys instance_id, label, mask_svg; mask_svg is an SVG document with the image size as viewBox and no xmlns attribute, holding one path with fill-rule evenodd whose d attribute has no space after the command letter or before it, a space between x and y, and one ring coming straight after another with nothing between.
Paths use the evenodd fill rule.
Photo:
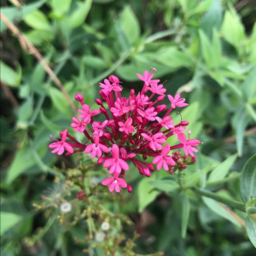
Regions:
<instances>
[{"instance_id":1,"label":"large pink floret directly above the lowest floret of the cluster","mask_svg":"<svg viewBox=\"0 0 256 256\"><path fill-rule=\"evenodd\" d=\"M119 147L116 144L112 146L112 156L113 158L106 160L103 165L104 167L110 167L109 173L119 175L122 169L125 171L129 170L129 166L125 160L119 158Z\"/></svg>"}]
</instances>

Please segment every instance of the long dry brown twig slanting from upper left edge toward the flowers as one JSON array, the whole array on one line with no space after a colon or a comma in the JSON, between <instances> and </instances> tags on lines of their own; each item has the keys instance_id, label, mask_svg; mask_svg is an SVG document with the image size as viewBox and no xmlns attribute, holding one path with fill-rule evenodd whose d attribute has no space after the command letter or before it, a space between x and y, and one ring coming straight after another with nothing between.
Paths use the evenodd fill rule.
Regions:
<instances>
[{"instance_id":1,"label":"long dry brown twig slanting from upper left edge toward the flowers","mask_svg":"<svg viewBox=\"0 0 256 256\"><path fill-rule=\"evenodd\" d=\"M3 22L5 23L6 26L9 27L9 30L11 32L13 32L16 36L16 38L18 38L18 40L20 41L20 45L21 47L28 53L28 54L32 54L34 55L38 61L41 63L41 65L44 67L44 70L46 71L46 73L49 74L49 76L51 77L51 79L55 82L55 84L59 87L59 89L61 90L61 92L63 93L63 95L66 97L67 102L70 104L71 108L73 109L73 112L76 113L77 109L75 107L75 105L73 104L70 96L67 94L67 90L65 90L63 84L61 84L61 81L56 77L55 73L52 71L52 69L49 67L48 63L44 60L44 57L39 53L38 49L36 49L36 47L29 42L24 35L22 35L20 33L20 30L18 29L17 26L15 26L8 18L6 18L5 15L3 15L0 12L0 18L1 20L3 20Z\"/></svg>"}]
</instances>

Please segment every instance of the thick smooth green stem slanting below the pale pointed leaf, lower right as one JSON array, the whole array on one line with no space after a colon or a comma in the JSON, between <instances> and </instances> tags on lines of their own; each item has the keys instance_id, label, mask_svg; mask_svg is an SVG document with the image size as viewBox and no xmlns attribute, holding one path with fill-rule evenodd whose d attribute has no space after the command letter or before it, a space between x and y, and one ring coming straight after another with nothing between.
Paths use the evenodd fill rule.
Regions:
<instances>
[{"instance_id":1,"label":"thick smooth green stem slanting below the pale pointed leaf, lower right","mask_svg":"<svg viewBox=\"0 0 256 256\"><path fill-rule=\"evenodd\" d=\"M217 194L212 193L211 191L206 190L206 189L201 189L201 188L198 188L198 187L194 187L193 189L195 190L195 193L197 193L199 195L207 196L207 197L212 198L216 201L224 203L225 205L228 205L230 207L234 207L234 208L240 210L241 212L246 212L245 205L243 203L241 203L240 201L235 201L235 200L223 197L221 195L217 195Z\"/></svg>"}]
</instances>

